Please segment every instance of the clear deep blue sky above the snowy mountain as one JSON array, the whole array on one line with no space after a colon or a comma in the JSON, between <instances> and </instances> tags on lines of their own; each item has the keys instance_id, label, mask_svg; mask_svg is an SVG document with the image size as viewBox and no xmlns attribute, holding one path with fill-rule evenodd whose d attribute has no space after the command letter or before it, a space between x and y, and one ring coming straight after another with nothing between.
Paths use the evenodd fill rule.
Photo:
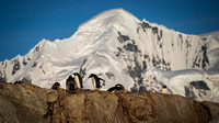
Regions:
<instances>
[{"instance_id":1,"label":"clear deep blue sky above the snowy mountain","mask_svg":"<svg viewBox=\"0 0 219 123\"><path fill-rule=\"evenodd\" d=\"M70 37L83 22L115 8L186 34L219 31L218 5L218 0L0 0L0 62L25 55L43 38Z\"/></svg>"}]
</instances>

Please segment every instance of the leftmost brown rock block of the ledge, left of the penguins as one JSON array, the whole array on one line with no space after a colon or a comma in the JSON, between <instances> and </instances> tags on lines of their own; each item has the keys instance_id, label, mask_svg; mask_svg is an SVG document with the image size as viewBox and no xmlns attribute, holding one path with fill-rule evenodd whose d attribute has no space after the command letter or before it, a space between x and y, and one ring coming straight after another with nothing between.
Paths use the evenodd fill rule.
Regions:
<instances>
[{"instance_id":1,"label":"leftmost brown rock block of the ledge, left of the penguins","mask_svg":"<svg viewBox=\"0 0 219 123\"><path fill-rule=\"evenodd\" d=\"M47 112L46 90L0 82L0 109L1 123L43 123Z\"/></svg>"}]
</instances>

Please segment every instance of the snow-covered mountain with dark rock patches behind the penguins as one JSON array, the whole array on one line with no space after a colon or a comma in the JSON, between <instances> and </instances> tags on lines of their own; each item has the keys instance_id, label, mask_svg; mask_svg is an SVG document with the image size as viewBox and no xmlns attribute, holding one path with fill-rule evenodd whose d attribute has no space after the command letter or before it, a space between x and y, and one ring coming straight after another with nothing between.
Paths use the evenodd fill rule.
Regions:
<instances>
[{"instance_id":1,"label":"snow-covered mountain with dark rock patches behind the penguins","mask_svg":"<svg viewBox=\"0 0 219 123\"><path fill-rule=\"evenodd\" d=\"M160 92L219 102L219 42L139 21L123 9L108 10L81 24L69 38L41 41L25 56L0 63L0 80L23 80L65 88L72 71L93 89L90 74L106 81L102 90L123 83L131 91Z\"/></svg>"}]
</instances>

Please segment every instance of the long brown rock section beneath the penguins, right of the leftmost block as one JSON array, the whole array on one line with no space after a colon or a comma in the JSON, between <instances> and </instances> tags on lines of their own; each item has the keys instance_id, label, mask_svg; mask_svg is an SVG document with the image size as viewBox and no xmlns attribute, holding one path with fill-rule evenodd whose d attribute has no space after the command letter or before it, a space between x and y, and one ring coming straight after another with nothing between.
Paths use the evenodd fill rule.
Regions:
<instances>
[{"instance_id":1,"label":"long brown rock section beneath the penguins, right of the leftmost block","mask_svg":"<svg viewBox=\"0 0 219 123\"><path fill-rule=\"evenodd\" d=\"M87 91L70 94L60 102L56 102L53 123L207 123L211 120L200 102L173 94Z\"/></svg>"}]
</instances>

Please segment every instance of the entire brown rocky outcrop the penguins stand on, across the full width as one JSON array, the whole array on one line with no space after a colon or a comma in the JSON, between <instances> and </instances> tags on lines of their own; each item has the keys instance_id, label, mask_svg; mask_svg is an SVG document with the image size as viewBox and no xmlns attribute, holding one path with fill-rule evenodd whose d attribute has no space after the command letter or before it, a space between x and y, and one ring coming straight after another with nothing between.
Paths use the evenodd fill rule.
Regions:
<instances>
[{"instance_id":1,"label":"entire brown rocky outcrop the penguins stand on, across the full width","mask_svg":"<svg viewBox=\"0 0 219 123\"><path fill-rule=\"evenodd\" d=\"M161 93L77 90L66 93L0 82L2 123L214 123L219 104Z\"/></svg>"}]
</instances>

